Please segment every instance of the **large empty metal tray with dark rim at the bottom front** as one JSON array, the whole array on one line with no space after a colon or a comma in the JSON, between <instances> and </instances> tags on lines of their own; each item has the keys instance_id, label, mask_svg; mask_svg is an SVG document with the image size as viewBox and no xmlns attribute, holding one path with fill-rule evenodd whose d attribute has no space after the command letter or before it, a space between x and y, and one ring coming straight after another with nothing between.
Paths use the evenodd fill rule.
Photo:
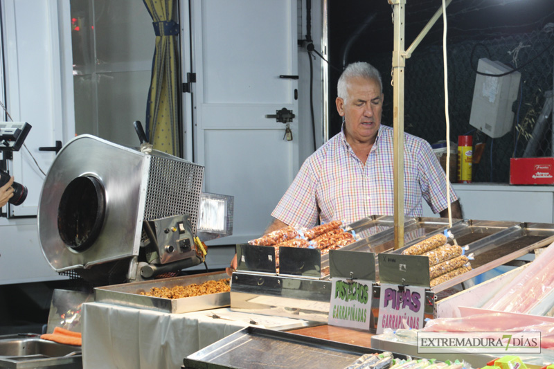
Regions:
<instances>
[{"instance_id":1,"label":"large empty metal tray with dark rim at the bottom front","mask_svg":"<svg viewBox=\"0 0 554 369\"><path fill-rule=\"evenodd\" d=\"M344 368L373 348L246 327L184 358L184 368ZM404 354L394 354L406 359Z\"/></svg>"}]
</instances>

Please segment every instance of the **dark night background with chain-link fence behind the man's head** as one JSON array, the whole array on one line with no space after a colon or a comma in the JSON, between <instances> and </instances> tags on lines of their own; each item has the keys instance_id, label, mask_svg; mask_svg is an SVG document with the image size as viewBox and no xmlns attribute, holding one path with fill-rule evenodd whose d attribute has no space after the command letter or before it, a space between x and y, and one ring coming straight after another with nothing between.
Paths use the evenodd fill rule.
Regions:
<instances>
[{"instance_id":1,"label":"dark night background with chain-link fence behind the man's head","mask_svg":"<svg viewBox=\"0 0 554 369\"><path fill-rule=\"evenodd\" d=\"M441 5L440 0L406 1L404 48L409 48ZM344 60L346 64L369 62L381 71L385 96L382 123L393 125L392 12L386 0L328 2L329 136L341 127L334 99ZM474 143L485 143L483 159L474 165L474 181L507 183L510 157L523 153L528 138L524 133L532 130L544 92L552 89L554 1L454 0L446 13L450 139L457 143L458 135L472 134ZM345 54L347 45L350 48ZM521 49L516 59L518 45ZM494 140L469 124L474 69L481 57L524 66L519 70L520 98L512 109L514 129ZM406 60L404 83L404 130L429 143L445 140L442 15ZM534 156L552 156L550 134L548 128Z\"/></svg>"}]
</instances>

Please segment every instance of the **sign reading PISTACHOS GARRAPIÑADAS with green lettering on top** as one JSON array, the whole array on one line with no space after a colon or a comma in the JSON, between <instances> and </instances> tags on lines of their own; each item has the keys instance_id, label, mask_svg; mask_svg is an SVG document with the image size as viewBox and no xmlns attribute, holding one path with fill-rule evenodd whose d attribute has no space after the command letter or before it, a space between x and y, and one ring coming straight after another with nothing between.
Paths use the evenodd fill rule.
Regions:
<instances>
[{"instance_id":1,"label":"sign reading PISTACHOS GARRAPI\u00d1ADAS with green lettering on top","mask_svg":"<svg viewBox=\"0 0 554 369\"><path fill-rule=\"evenodd\" d=\"M373 282L331 278L329 325L369 330Z\"/></svg>"}]
</instances>

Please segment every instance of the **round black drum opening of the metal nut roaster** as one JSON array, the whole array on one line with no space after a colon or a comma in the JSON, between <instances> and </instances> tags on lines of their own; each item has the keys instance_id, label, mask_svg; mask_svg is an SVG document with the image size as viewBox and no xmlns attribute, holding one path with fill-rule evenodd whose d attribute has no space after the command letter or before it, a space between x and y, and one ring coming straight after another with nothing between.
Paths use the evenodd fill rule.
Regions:
<instances>
[{"instance_id":1,"label":"round black drum opening of the metal nut roaster","mask_svg":"<svg viewBox=\"0 0 554 369\"><path fill-rule=\"evenodd\" d=\"M90 176L73 179L57 208L57 229L62 241L75 251L88 249L100 235L105 210L102 182Z\"/></svg>"}]
</instances>

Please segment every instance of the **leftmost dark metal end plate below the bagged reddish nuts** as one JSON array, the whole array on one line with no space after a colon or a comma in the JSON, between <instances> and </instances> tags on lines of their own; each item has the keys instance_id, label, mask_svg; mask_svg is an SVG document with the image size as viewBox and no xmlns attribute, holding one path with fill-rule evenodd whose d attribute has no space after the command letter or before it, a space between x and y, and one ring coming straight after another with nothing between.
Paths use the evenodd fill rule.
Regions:
<instances>
[{"instance_id":1,"label":"leftmost dark metal end plate below the bagged reddish nuts","mask_svg":"<svg viewBox=\"0 0 554 369\"><path fill-rule=\"evenodd\" d=\"M237 244L237 270L276 273L274 246Z\"/></svg>"}]
</instances>

